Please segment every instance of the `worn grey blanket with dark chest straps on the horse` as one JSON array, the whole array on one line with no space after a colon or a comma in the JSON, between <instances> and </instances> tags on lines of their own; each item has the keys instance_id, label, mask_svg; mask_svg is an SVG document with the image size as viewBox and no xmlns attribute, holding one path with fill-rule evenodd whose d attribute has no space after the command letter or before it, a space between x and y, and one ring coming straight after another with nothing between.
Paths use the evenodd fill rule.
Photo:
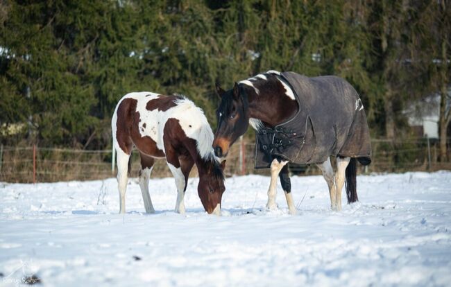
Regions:
<instances>
[{"instance_id":1,"label":"worn grey blanket with dark chest straps on the horse","mask_svg":"<svg viewBox=\"0 0 451 287\"><path fill-rule=\"evenodd\" d=\"M364 106L343 78L308 78L284 72L280 78L295 94L293 118L256 133L255 168L269 168L275 157L296 164L319 164L330 155L371 163L371 142Z\"/></svg>"}]
</instances>

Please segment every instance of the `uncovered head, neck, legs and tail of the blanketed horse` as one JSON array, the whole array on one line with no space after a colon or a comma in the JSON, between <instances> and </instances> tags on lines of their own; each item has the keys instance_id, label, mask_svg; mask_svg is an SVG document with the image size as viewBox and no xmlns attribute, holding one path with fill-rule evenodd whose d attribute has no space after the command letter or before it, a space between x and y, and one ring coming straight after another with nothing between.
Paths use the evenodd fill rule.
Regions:
<instances>
[{"instance_id":1,"label":"uncovered head, neck, legs and tail of the blanketed horse","mask_svg":"<svg viewBox=\"0 0 451 287\"><path fill-rule=\"evenodd\" d=\"M293 90L280 78L278 71L260 73L247 80L235 82L233 89L227 92L216 85L216 93L221 98L221 103L216 110L218 126L213 141L214 153L218 157L226 157L230 145L246 132L249 125L255 130L263 127L274 128L280 123L292 119L298 112L298 103ZM327 114L324 116L327 117ZM332 210L341 210L341 189L345 177L348 202L357 201L355 158L341 157L339 154L334 156L337 156L336 173L332 168L330 155L327 155L325 162L316 164L321 168L327 182ZM275 197L279 175L289 212L296 214L287 163L288 161L281 157L275 157L271 162L271 183L266 207L268 209L277 207Z\"/></svg>"}]
</instances>

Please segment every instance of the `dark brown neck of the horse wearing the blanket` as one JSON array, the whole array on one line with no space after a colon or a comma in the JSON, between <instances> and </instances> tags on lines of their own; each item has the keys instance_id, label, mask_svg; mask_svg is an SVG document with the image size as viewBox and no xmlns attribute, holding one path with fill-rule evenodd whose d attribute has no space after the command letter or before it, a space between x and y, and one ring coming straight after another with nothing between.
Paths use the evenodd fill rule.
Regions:
<instances>
[{"instance_id":1,"label":"dark brown neck of the horse wearing the blanket","mask_svg":"<svg viewBox=\"0 0 451 287\"><path fill-rule=\"evenodd\" d=\"M250 87L246 87L248 94L249 117L259 119L271 127L275 127L290 119L298 110L296 101L284 94L271 94L259 87L259 94Z\"/></svg>"}]
</instances>

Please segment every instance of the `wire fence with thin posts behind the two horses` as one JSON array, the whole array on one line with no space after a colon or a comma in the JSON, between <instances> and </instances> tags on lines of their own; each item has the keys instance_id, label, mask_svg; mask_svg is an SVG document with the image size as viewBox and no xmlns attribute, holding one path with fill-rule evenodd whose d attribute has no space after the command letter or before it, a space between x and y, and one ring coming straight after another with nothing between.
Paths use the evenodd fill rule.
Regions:
<instances>
[{"instance_id":1,"label":"wire fence with thin posts behind the two horses","mask_svg":"<svg viewBox=\"0 0 451 287\"><path fill-rule=\"evenodd\" d=\"M372 139L373 162L359 166L359 173L436 171L451 169L450 162L439 162L439 143L426 138ZM448 148L449 149L449 148ZM255 169L255 142L240 139L229 151L227 176L262 174L267 169ZM448 155L448 158L449 155ZM332 159L333 162L333 159ZM332 163L333 164L333 163ZM131 176L136 177L139 155L132 155ZM290 164L291 174L315 175L321 171L315 164ZM74 150L33 146L0 147L0 181L2 182L56 182L65 180L101 180L116 176L112 168L112 150ZM168 177L171 172L164 159L157 160L152 177ZM194 167L191 176L197 176Z\"/></svg>"}]
</instances>

